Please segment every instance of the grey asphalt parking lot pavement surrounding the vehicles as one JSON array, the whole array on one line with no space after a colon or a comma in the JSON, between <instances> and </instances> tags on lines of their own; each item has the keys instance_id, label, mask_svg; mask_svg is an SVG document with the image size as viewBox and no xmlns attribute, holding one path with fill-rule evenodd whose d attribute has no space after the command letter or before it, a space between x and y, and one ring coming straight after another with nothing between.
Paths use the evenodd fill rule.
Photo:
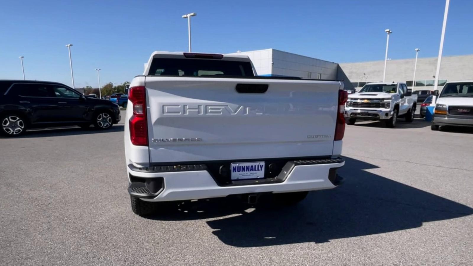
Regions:
<instances>
[{"instance_id":1,"label":"grey asphalt parking lot pavement surrounding the vehicles","mask_svg":"<svg viewBox=\"0 0 473 266\"><path fill-rule=\"evenodd\" d=\"M124 114L122 114L124 117ZM131 212L123 121L0 139L0 265L473 265L473 130L347 126L345 183L296 207Z\"/></svg>"}]
</instances>

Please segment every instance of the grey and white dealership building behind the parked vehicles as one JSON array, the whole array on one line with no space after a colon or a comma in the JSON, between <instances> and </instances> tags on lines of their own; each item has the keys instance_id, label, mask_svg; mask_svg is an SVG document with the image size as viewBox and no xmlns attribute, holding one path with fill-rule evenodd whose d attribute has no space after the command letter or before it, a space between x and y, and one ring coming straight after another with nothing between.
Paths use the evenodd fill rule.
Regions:
<instances>
[{"instance_id":1,"label":"grey and white dealership building behind the parked vehicles","mask_svg":"<svg viewBox=\"0 0 473 266\"><path fill-rule=\"evenodd\" d=\"M342 80L345 88L363 87L368 82L382 81L384 60L372 62L335 63L276 49L239 52L250 57L260 76L291 76L303 79ZM412 87L415 59L388 60L386 82L406 82ZM417 60L414 90L432 90L437 57ZM443 56L438 85L448 80L473 80L473 54Z\"/></svg>"}]
</instances>

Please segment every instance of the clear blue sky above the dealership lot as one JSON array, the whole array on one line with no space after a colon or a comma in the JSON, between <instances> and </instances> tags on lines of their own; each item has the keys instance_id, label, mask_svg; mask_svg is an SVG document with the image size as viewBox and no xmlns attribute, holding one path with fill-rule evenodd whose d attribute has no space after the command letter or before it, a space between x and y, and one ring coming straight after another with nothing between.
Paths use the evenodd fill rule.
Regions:
<instances>
[{"instance_id":1,"label":"clear blue sky above the dealership lot","mask_svg":"<svg viewBox=\"0 0 473 266\"><path fill-rule=\"evenodd\" d=\"M74 44L76 87L131 80L156 50L233 53L274 48L333 62L438 54L445 0L36 1L1 4L0 79L71 85L66 44ZM473 53L472 0L452 0L444 55ZM473 62L472 62L473 63Z\"/></svg>"}]
</instances>

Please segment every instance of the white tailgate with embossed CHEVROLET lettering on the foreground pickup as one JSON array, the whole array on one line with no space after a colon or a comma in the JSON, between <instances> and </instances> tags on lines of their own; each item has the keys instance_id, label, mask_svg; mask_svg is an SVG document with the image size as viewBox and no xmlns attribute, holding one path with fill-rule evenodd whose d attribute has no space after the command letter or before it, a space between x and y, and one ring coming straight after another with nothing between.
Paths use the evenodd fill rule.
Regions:
<instances>
[{"instance_id":1,"label":"white tailgate with embossed CHEVROLET lettering on the foreground pickup","mask_svg":"<svg viewBox=\"0 0 473 266\"><path fill-rule=\"evenodd\" d=\"M338 81L148 76L145 84L150 162L332 155ZM268 89L241 93L237 84Z\"/></svg>"}]
</instances>

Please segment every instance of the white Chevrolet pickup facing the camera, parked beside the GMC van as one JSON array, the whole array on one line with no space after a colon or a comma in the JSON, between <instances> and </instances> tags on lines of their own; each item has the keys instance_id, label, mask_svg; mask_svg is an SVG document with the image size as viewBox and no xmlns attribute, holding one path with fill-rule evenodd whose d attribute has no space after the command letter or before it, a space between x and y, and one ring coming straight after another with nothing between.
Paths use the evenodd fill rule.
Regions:
<instances>
[{"instance_id":1,"label":"white Chevrolet pickup facing the camera, parked beside the GMC van","mask_svg":"<svg viewBox=\"0 0 473 266\"><path fill-rule=\"evenodd\" d=\"M405 83L373 82L348 96L345 117L347 124L357 119L380 120L386 127L395 127L399 117L412 122L416 108L417 95Z\"/></svg>"}]
</instances>

